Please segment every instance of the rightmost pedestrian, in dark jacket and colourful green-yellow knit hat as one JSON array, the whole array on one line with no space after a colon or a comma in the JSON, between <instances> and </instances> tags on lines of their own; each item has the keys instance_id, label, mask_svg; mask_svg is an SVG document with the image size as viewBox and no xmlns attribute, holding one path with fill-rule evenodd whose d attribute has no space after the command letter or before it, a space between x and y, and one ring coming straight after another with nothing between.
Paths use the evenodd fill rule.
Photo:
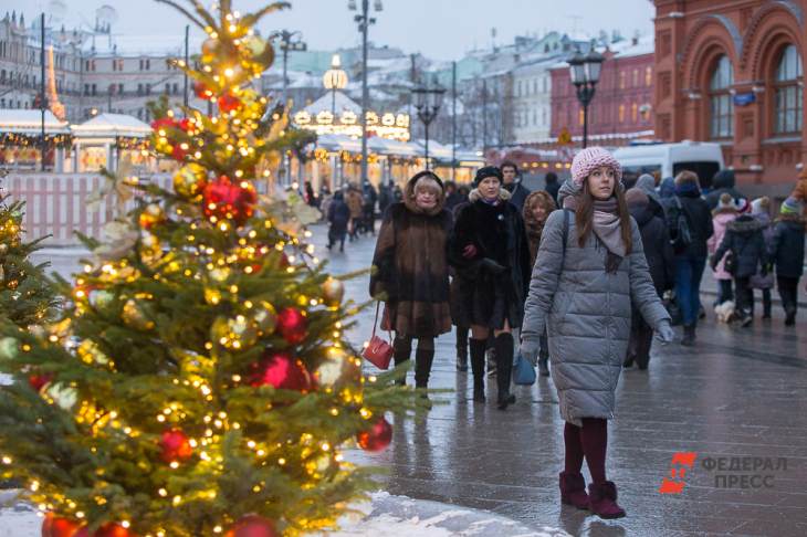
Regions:
<instances>
[{"instance_id":1,"label":"rightmost pedestrian, in dark jacket and colourful green-yellow knit hat","mask_svg":"<svg viewBox=\"0 0 807 537\"><path fill-rule=\"evenodd\" d=\"M789 197L779 208L774 224L769 259L776 267L776 285L785 309L785 326L796 324L798 310L798 281L804 273L805 221L803 203Z\"/></svg>"}]
</instances>

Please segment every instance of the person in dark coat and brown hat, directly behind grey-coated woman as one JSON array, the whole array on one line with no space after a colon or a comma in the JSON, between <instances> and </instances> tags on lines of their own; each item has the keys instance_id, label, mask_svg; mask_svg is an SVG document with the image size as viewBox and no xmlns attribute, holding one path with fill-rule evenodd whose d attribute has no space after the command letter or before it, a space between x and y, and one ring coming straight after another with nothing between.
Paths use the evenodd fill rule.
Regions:
<instances>
[{"instance_id":1,"label":"person in dark coat and brown hat, directly behind grey-coated woman","mask_svg":"<svg viewBox=\"0 0 807 537\"><path fill-rule=\"evenodd\" d=\"M652 178L652 176L641 177ZM659 214L661 206L659 203L653 204L652 198L640 187L641 177L636 182L636 187L625 193L625 201L628 204L630 215L633 217L636 224L639 227L650 278L653 281L656 294L661 298L664 292L673 286L675 257L672 253L670 233L663 218L664 213L662 211ZM625 367L632 367L636 362L639 369L647 369L650 362L652 343L653 327L644 320L641 310L632 305L630 339L628 340Z\"/></svg>"}]
</instances>

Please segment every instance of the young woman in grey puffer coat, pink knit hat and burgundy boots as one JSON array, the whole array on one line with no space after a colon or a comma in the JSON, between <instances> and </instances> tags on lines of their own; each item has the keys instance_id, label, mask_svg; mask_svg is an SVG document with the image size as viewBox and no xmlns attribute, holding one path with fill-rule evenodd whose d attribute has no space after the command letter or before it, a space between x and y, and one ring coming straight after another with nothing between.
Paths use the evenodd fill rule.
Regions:
<instances>
[{"instance_id":1,"label":"young woman in grey puffer coat, pink knit hat and burgundy boots","mask_svg":"<svg viewBox=\"0 0 807 537\"><path fill-rule=\"evenodd\" d=\"M625 516L606 480L607 420L628 347L631 302L659 339L672 341L670 316L650 277L619 162L600 147L584 149L560 189L563 210L544 228L522 326L522 355L535 364L548 328L552 378L565 423L560 501L602 518ZM580 470L588 463L586 494Z\"/></svg>"}]
</instances>

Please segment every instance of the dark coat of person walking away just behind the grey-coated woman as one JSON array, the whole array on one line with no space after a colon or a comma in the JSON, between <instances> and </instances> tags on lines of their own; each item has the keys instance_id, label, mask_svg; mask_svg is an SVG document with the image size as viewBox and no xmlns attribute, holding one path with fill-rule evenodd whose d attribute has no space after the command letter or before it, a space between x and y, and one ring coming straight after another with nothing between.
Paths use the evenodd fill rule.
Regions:
<instances>
[{"instance_id":1,"label":"dark coat of person walking away just behind the grey-coated woman","mask_svg":"<svg viewBox=\"0 0 807 537\"><path fill-rule=\"evenodd\" d=\"M656 207L660 206L656 203ZM648 260L653 286L656 292L661 294L672 288L674 255L667 224L662 218L656 215L656 207L651 204L635 206L630 208L630 214L639 225L644 257Z\"/></svg>"}]
</instances>

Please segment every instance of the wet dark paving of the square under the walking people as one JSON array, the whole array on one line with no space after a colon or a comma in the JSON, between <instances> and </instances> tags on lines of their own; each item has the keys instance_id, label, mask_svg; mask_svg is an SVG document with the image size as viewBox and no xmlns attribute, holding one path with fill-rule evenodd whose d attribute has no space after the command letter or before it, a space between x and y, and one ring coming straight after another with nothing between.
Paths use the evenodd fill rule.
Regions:
<instances>
[{"instance_id":1,"label":"wet dark paving of the square under the walking people","mask_svg":"<svg viewBox=\"0 0 807 537\"><path fill-rule=\"evenodd\" d=\"M325 229L313 231L317 252L327 254L321 248ZM374 243L347 243L344 254L329 255L331 271L368 266ZM60 272L75 259L75 252L44 254ZM347 297L367 299L366 276L346 288ZM369 337L373 313L360 314L356 343ZM397 420L392 446L361 456L388 468L384 487L390 494L485 509L535 529L609 537L805 536L807 312L792 328L782 315L775 307L773 320L745 329L716 325L710 315L694 348L654 346L648 371L623 372L607 468L627 518L606 522L562 508L563 420L552 380L517 388L517 402L506 412L490 402L494 382L489 403L474 404L470 372L454 369L453 334L438 339L430 385L453 390L443 396L447 403L426 418ZM679 494L661 494L677 452L695 453L695 461L691 468L675 466L687 470L673 482L684 484Z\"/></svg>"}]
</instances>

